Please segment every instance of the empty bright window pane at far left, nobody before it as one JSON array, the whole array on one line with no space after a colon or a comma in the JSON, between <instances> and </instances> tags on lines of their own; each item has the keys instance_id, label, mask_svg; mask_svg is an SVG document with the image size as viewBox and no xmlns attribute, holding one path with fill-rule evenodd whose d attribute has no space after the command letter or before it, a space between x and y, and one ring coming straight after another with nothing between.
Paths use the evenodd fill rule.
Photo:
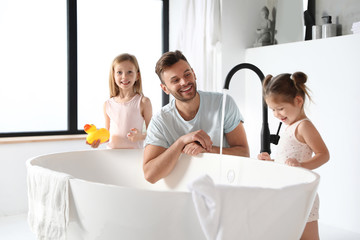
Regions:
<instances>
[{"instance_id":1,"label":"empty bright window pane at far left, nobody before it","mask_svg":"<svg viewBox=\"0 0 360 240\"><path fill-rule=\"evenodd\" d=\"M66 2L2 0L0 34L0 133L66 130Z\"/></svg>"}]
</instances>

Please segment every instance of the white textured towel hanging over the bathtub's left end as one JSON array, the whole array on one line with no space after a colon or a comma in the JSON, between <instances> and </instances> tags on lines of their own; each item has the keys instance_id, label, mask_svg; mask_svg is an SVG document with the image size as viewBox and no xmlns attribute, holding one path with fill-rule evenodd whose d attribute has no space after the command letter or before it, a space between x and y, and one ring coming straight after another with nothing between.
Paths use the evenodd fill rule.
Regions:
<instances>
[{"instance_id":1,"label":"white textured towel hanging over the bathtub's left end","mask_svg":"<svg viewBox=\"0 0 360 240\"><path fill-rule=\"evenodd\" d=\"M70 175L27 165L28 223L38 239L66 239Z\"/></svg>"}]
</instances>

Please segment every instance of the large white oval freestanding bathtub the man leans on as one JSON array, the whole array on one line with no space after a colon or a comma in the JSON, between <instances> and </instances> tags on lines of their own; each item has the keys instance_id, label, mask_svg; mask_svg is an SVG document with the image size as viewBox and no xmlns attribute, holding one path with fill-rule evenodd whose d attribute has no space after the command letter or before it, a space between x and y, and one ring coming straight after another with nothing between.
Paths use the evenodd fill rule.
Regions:
<instances>
[{"instance_id":1,"label":"large white oval freestanding bathtub the man leans on","mask_svg":"<svg viewBox=\"0 0 360 240\"><path fill-rule=\"evenodd\" d=\"M76 151L35 157L28 165L72 176L70 240L206 239L187 186L202 174L216 184L254 192L256 199L227 206L247 213L246 229L251 237L246 240L296 240L319 184L317 174L302 168L218 154L182 155L168 177L150 184L143 176L142 156L143 150ZM275 189L276 194L269 196L268 189Z\"/></svg>"}]
</instances>

